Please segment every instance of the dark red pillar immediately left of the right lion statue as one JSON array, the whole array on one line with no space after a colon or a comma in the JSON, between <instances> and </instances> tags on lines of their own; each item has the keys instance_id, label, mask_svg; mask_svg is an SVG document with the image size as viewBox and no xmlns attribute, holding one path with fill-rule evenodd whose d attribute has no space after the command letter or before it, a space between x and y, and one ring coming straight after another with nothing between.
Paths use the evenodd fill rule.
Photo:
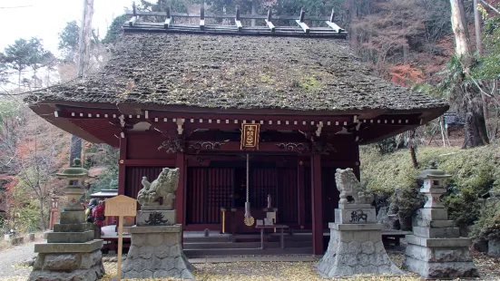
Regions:
<instances>
[{"instance_id":1,"label":"dark red pillar immediately left of the right lion statue","mask_svg":"<svg viewBox=\"0 0 500 281\"><path fill-rule=\"evenodd\" d=\"M321 155L311 156L312 254L323 255L323 214L321 209Z\"/></svg>"}]
</instances>

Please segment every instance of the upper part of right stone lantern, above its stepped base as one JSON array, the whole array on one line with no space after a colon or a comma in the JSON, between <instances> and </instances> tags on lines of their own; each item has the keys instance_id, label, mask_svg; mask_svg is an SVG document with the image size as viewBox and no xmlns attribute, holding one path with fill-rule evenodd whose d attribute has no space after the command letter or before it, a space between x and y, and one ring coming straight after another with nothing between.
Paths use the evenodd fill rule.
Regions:
<instances>
[{"instance_id":1,"label":"upper part of right stone lantern, above its stepped base","mask_svg":"<svg viewBox=\"0 0 500 281\"><path fill-rule=\"evenodd\" d=\"M444 170L438 170L436 162L429 161L427 170L423 170L417 179L424 179L424 186L420 192L427 197L424 208L445 208L439 198L445 194L446 189L443 187L443 180L451 177Z\"/></svg>"}]
</instances>

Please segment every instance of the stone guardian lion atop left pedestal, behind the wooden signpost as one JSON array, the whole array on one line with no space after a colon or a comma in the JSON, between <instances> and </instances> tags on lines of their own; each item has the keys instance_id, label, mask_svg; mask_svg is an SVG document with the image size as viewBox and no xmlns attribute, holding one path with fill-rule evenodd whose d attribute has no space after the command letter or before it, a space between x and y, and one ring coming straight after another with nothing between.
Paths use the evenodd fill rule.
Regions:
<instances>
[{"instance_id":1,"label":"stone guardian lion atop left pedestal, behind the wooden signpost","mask_svg":"<svg viewBox=\"0 0 500 281\"><path fill-rule=\"evenodd\" d=\"M158 179L154 179L151 183L146 177L142 177L143 188L137 194L137 201L142 206L164 206L166 209L172 209L178 183L179 168L163 168ZM163 204L160 204L161 198Z\"/></svg>"}]
</instances>

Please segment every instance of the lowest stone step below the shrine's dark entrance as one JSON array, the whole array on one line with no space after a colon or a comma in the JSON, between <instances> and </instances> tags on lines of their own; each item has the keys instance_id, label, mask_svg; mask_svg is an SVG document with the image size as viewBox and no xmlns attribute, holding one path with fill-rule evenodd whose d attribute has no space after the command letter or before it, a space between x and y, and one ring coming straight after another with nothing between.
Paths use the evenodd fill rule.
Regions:
<instances>
[{"instance_id":1,"label":"lowest stone step below the shrine's dark entrance","mask_svg":"<svg viewBox=\"0 0 500 281\"><path fill-rule=\"evenodd\" d=\"M312 247L285 248L234 248L234 249L184 249L186 257L310 255Z\"/></svg>"}]
</instances>

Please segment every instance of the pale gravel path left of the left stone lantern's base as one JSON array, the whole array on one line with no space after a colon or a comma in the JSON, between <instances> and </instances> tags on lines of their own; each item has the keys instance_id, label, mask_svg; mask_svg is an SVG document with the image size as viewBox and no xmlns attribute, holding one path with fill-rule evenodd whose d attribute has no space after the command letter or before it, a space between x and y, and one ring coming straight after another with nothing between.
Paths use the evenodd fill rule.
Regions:
<instances>
[{"instance_id":1,"label":"pale gravel path left of the left stone lantern's base","mask_svg":"<svg viewBox=\"0 0 500 281\"><path fill-rule=\"evenodd\" d=\"M31 267L18 266L26 259L34 257L34 243L26 243L0 252L0 280L17 279L27 277L31 273ZM7 279L8 280L8 279Z\"/></svg>"}]
</instances>

